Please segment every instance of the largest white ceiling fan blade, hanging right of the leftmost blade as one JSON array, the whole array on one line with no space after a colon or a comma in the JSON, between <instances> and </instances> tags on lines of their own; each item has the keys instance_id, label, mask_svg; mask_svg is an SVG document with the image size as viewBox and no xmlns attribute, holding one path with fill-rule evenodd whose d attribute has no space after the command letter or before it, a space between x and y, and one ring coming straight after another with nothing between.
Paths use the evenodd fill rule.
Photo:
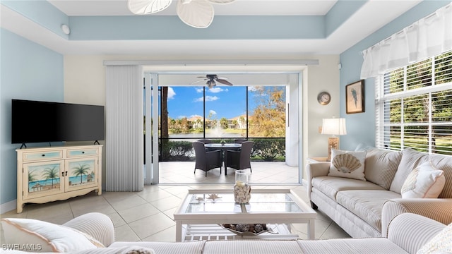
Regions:
<instances>
[{"instance_id":1,"label":"largest white ceiling fan blade, hanging right of the leftmost blade","mask_svg":"<svg viewBox=\"0 0 452 254\"><path fill-rule=\"evenodd\" d=\"M207 0L178 0L176 11L184 23L194 28L207 28L213 21L213 6Z\"/></svg>"}]
</instances>

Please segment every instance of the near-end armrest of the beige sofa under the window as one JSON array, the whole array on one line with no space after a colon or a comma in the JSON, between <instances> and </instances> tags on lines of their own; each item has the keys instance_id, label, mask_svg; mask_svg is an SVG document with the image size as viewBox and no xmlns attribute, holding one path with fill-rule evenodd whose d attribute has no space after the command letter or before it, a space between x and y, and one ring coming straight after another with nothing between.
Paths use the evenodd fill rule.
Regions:
<instances>
[{"instance_id":1,"label":"near-end armrest of the beige sofa under the window","mask_svg":"<svg viewBox=\"0 0 452 254\"><path fill-rule=\"evenodd\" d=\"M442 224L452 222L452 198L395 198L387 200L381 210L381 234L387 236L388 225L405 212L420 214Z\"/></svg>"}]
</instances>

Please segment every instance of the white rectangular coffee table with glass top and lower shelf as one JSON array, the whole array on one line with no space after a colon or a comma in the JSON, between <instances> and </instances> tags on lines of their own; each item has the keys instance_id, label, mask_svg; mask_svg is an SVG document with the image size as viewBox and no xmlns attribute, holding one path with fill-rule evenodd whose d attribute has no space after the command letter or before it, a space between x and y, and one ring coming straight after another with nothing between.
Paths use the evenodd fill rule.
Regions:
<instances>
[{"instance_id":1,"label":"white rectangular coffee table with glass top and lower shelf","mask_svg":"<svg viewBox=\"0 0 452 254\"><path fill-rule=\"evenodd\" d=\"M217 196L217 198L215 198ZM314 238L317 213L290 189L251 189L246 204L234 202L230 189L189 190L174 213L176 241L239 240L244 238L298 238L291 224L306 223ZM237 234L225 224L266 224L271 232Z\"/></svg>"}]
</instances>

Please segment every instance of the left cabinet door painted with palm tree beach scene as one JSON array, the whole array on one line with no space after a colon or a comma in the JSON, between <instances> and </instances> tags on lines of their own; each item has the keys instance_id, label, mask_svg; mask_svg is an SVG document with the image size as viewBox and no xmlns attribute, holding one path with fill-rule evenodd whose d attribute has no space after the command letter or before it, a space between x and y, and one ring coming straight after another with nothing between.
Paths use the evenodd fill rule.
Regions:
<instances>
[{"instance_id":1,"label":"left cabinet door painted with palm tree beach scene","mask_svg":"<svg viewBox=\"0 0 452 254\"><path fill-rule=\"evenodd\" d=\"M24 200L64 193L64 160L24 163L23 174Z\"/></svg>"}]
</instances>

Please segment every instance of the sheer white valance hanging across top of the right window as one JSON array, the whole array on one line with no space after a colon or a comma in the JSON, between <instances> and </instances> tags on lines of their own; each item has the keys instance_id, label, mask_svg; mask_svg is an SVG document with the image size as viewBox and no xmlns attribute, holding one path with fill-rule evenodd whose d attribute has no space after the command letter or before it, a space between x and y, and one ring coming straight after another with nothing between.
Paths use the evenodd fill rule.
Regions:
<instances>
[{"instance_id":1,"label":"sheer white valance hanging across top of the right window","mask_svg":"<svg viewBox=\"0 0 452 254\"><path fill-rule=\"evenodd\" d=\"M362 52L361 78L382 75L452 49L452 4Z\"/></svg>"}]
</instances>

